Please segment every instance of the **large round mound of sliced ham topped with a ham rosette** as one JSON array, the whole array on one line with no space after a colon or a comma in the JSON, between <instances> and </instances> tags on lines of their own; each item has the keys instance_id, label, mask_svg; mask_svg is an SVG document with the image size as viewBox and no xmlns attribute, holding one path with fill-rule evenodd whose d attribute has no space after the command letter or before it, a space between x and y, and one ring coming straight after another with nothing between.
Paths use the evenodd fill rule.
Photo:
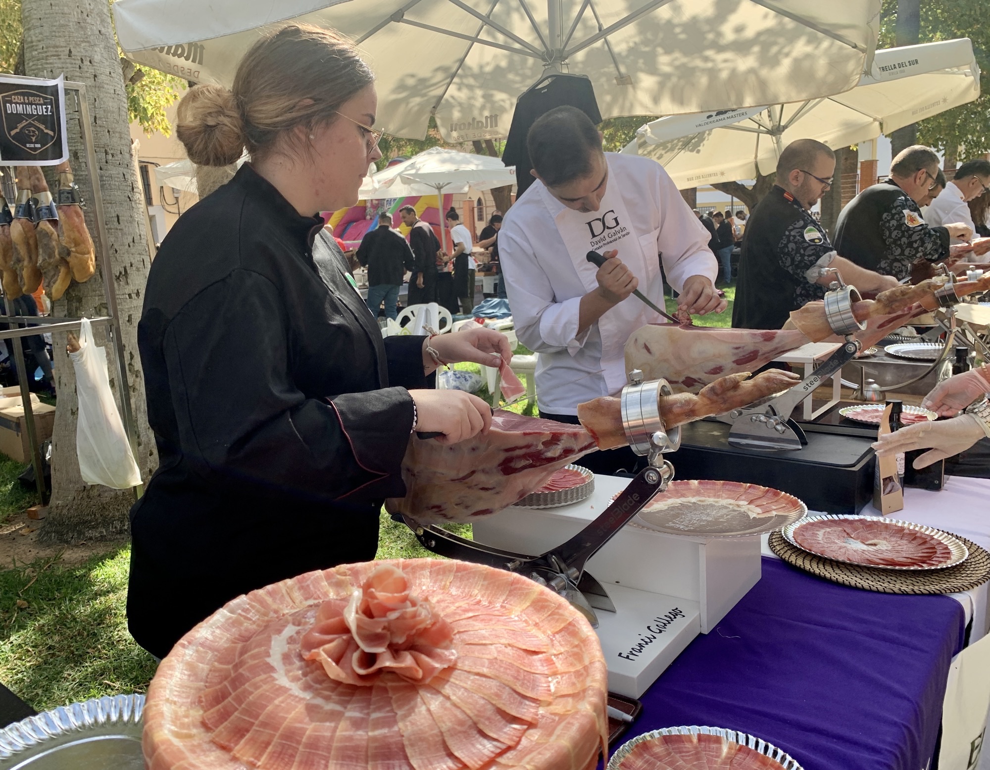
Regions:
<instances>
[{"instance_id":1,"label":"large round mound of sliced ham topped with a ham rosette","mask_svg":"<svg viewBox=\"0 0 990 770\"><path fill-rule=\"evenodd\" d=\"M148 770L592 770L591 626L511 572L345 564L241 596L158 667Z\"/></svg>"}]
</instances>

